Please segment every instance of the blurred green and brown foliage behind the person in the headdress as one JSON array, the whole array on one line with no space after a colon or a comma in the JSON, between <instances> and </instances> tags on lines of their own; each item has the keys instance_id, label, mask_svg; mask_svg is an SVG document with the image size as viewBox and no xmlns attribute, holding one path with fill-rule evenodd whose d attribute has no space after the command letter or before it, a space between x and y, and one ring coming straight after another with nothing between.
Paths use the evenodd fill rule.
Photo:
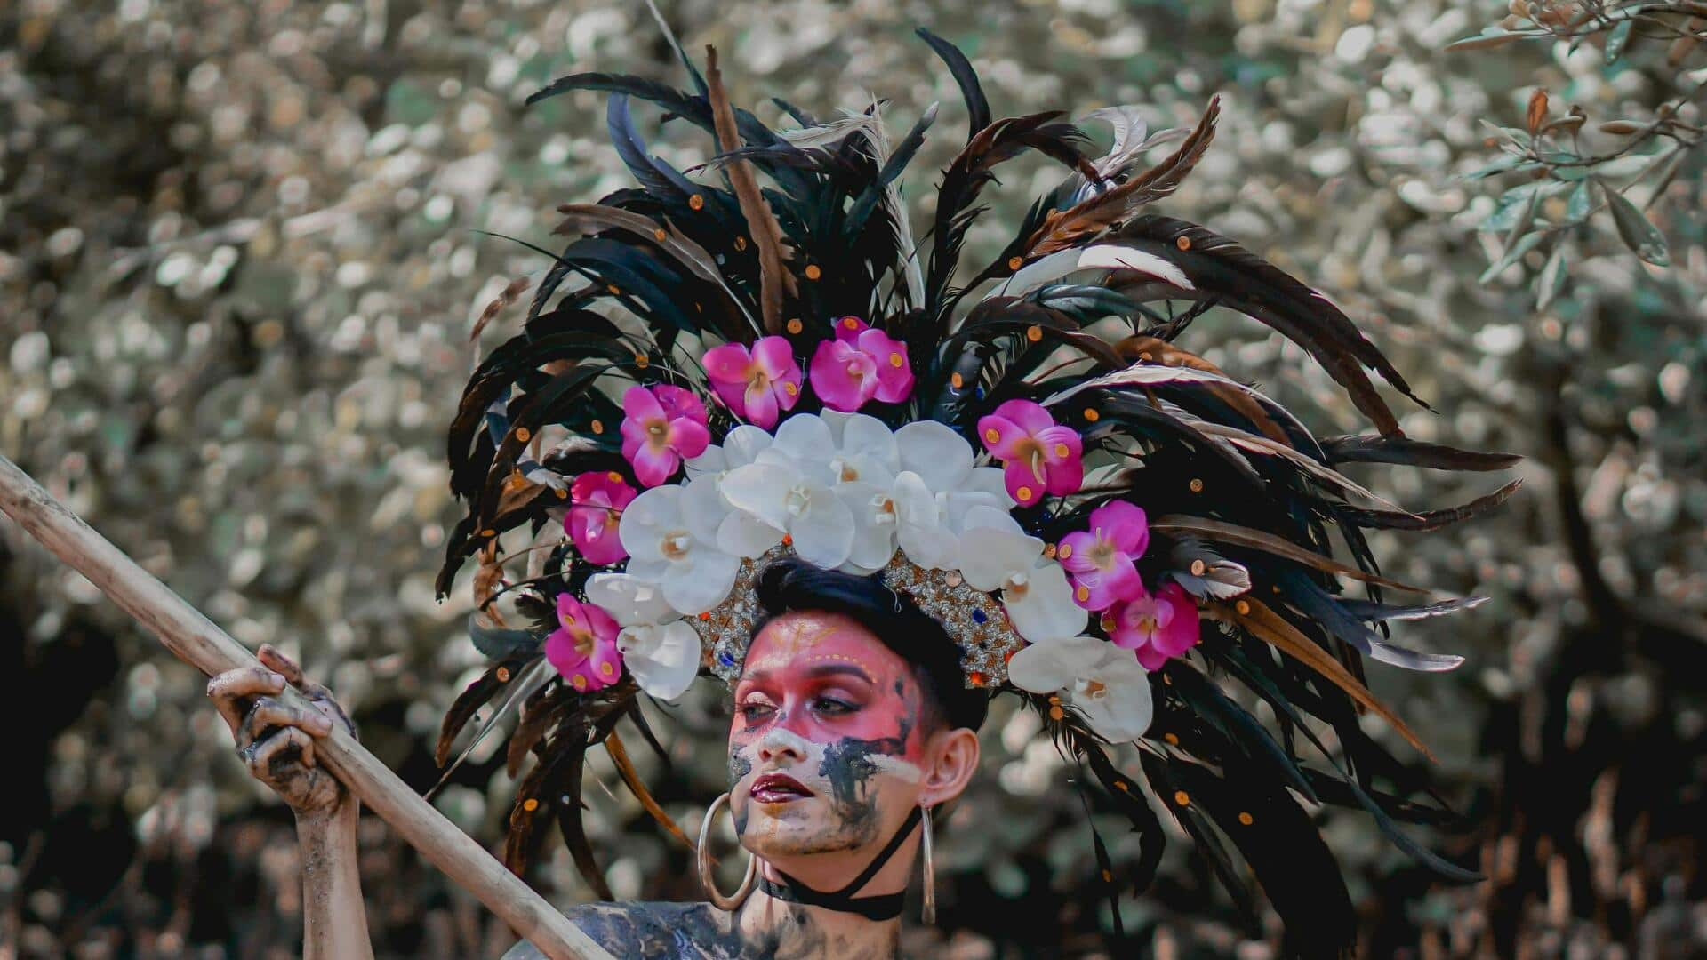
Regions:
<instances>
[{"instance_id":1,"label":"blurred green and brown foliage behind the person in the headdress","mask_svg":"<svg viewBox=\"0 0 1707 960\"><path fill-rule=\"evenodd\" d=\"M1466 654L1459 671L1371 668L1465 815L1419 834L1489 880L1437 883L1366 817L1325 813L1362 953L1707 953L1707 5L662 5L688 50L717 44L736 102L773 125L768 96L826 114L872 91L898 125L930 101L958 111L915 26L966 50L997 116L1135 102L1159 128L1221 92L1221 133L1162 208L1345 306L1436 407L1412 408L1410 436L1528 456L1523 490L1492 518L1374 541L1400 579L1492 598L1403 630ZM480 664L471 567L451 601L432 591L459 516L444 429L473 319L546 266L476 231L543 243L556 203L626 183L597 96L521 106L577 70L681 82L626 2L0 10L0 449L236 637L306 658L422 789L437 779L439 716ZM661 155L707 157L703 137L640 109ZM949 140L913 169L946 162ZM1012 171L987 193L982 255L1058 176L1045 161ZM514 319L500 314L485 345ZM1205 333L1209 360L1320 434L1362 429L1265 328L1212 314L1198 347ZM1500 482L1413 468L1359 480L1413 509ZM14 757L0 955L294 953L290 817L232 758L201 676L0 530ZM702 687L654 717L674 764L647 770L690 830L724 777L727 707ZM992 716L987 769L941 840L941 929L910 928L912 951L1272 955L1272 917L1241 917L1183 837L1111 938L1084 810L1062 789L1072 770L1029 723ZM439 799L488 844L512 789L498 741ZM686 852L625 791L587 798L620 897L700 897ZM384 823L367 818L362 839L381 955L512 941ZM562 904L589 899L556 854L529 880Z\"/></svg>"}]
</instances>

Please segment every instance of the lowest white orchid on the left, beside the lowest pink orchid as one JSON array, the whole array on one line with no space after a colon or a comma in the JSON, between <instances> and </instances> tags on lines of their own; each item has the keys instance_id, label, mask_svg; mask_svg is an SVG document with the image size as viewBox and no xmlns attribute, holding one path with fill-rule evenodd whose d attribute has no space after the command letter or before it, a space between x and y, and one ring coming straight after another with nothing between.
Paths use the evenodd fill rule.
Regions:
<instances>
[{"instance_id":1,"label":"lowest white orchid on the left, beside the lowest pink orchid","mask_svg":"<svg viewBox=\"0 0 1707 960\"><path fill-rule=\"evenodd\" d=\"M633 574L592 574L587 600L616 620L616 649L635 683L661 700L683 695L700 675L700 634L664 600L657 584Z\"/></svg>"}]
</instances>

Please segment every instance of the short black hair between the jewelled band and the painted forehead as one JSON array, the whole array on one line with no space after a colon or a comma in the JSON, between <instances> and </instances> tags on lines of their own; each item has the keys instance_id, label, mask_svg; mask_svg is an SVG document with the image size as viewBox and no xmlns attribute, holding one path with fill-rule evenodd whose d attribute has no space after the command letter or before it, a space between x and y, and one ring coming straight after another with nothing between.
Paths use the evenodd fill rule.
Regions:
<instances>
[{"instance_id":1,"label":"short black hair between the jewelled band and the painted forehead","mask_svg":"<svg viewBox=\"0 0 1707 960\"><path fill-rule=\"evenodd\" d=\"M883 584L881 574L859 576L814 567L806 560L775 560L758 576L758 603L765 612L753 634L778 613L821 610L852 617L901 659L913 664L913 676L925 690L927 707L935 707L949 729L983 726L990 695L966 687L961 647L941 623L913 601Z\"/></svg>"}]
</instances>

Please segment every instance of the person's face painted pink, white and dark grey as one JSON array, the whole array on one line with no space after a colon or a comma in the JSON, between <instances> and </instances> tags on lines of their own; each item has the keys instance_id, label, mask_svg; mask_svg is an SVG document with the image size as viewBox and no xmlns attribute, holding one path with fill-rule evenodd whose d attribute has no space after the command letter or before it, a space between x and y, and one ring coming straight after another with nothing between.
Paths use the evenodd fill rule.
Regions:
<instances>
[{"instance_id":1,"label":"person's face painted pink, white and dark grey","mask_svg":"<svg viewBox=\"0 0 1707 960\"><path fill-rule=\"evenodd\" d=\"M797 873L790 858L888 842L918 803L920 707L908 663L854 618L802 612L766 623L748 647L729 729L743 846Z\"/></svg>"}]
</instances>

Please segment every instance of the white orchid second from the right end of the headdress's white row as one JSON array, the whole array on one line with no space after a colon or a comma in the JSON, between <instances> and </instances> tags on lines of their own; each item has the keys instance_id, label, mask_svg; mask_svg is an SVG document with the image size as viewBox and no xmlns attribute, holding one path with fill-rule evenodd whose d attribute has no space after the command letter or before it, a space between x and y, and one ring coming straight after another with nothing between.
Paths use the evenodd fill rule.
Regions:
<instances>
[{"instance_id":1,"label":"white orchid second from the right end of the headdress's white row","mask_svg":"<svg viewBox=\"0 0 1707 960\"><path fill-rule=\"evenodd\" d=\"M959 552L961 576L976 589L1000 589L1002 608L1026 641L1072 637L1089 622L1089 612L1072 600L1067 571L1055 560L1043 560L1043 541L1028 536L1007 511L968 509Z\"/></svg>"}]
</instances>

